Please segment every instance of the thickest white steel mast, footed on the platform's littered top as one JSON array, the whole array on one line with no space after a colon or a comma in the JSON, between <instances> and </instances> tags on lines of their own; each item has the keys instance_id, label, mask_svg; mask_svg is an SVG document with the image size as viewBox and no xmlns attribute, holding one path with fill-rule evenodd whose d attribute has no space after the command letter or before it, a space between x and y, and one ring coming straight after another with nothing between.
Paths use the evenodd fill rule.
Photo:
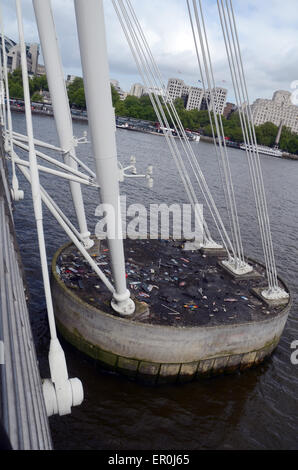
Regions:
<instances>
[{"instance_id":1,"label":"thickest white steel mast, footed on the platform's littered top","mask_svg":"<svg viewBox=\"0 0 298 470\"><path fill-rule=\"evenodd\" d=\"M41 2L43 3L43 2ZM102 203L113 208L114 236L109 234L116 292L112 307L121 315L133 314L135 305L126 287L119 204L116 125L112 105L102 0L75 0L90 137Z\"/></svg>"}]
</instances>

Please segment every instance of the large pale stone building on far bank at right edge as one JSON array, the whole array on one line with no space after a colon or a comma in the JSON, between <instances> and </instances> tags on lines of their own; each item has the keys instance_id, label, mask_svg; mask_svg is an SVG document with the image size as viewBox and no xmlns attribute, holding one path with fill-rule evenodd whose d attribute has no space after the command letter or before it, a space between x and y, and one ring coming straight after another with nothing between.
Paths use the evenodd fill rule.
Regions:
<instances>
[{"instance_id":1,"label":"large pale stone building on far bank at right edge","mask_svg":"<svg viewBox=\"0 0 298 470\"><path fill-rule=\"evenodd\" d=\"M282 122L284 126L298 134L298 106L292 104L290 92L278 90L272 100L257 99L251 110L256 126L265 122L279 126Z\"/></svg>"}]
</instances>

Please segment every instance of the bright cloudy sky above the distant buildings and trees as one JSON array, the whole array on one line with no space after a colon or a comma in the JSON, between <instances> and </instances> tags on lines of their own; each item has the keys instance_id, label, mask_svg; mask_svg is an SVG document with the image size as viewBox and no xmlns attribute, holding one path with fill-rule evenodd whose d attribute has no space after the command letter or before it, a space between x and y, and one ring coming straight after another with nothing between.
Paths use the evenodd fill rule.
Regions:
<instances>
[{"instance_id":1,"label":"bright cloudy sky above the distant buildings and trees","mask_svg":"<svg viewBox=\"0 0 298 470\"><path fill-rule=\"evenodd\" d=\"M42 0L40 0L42 1ZM88 0L86 0L88 1ZM1 0L5 34L18 40L14 0ZM178 77L198 85L200 79L185 0L132 0L165 83ZM218 86L234 99L216 0L202 0ZM72 0L52 0L66 74L81 75ZM140 82L136 66L111 0L104 0L110 76L129 91ZM250 100L291 90L298 80L297 0L234 0ZM38 42L31 0L23 0L27 42ZM41 60L42 62L42 60Z\"/></svg>"}]
</instances>

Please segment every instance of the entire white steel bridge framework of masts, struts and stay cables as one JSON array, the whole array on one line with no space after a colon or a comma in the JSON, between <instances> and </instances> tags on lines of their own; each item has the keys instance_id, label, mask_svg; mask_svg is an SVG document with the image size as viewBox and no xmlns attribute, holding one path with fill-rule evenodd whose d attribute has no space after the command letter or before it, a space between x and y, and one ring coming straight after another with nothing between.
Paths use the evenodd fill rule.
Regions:
<instances>
[{"instance_id":1,"label":"entire white steel bridge framework of masts, struts and stay cables","mask_svg":"<svg viewBox=\"0 0 298 470\"><path fill-rule=\"evenodd\" d=\"M130 292L127 289L126 285L125 259L122 236L118 236L117 238L115 238L111 235L111 233L109 233L109 231L107 233L110 248L112 276L114 279L114 282L112 283L109 281L109 279L107 279L100 267L94 262L94 260L88 253L88 249L92 246L93 241L90 238L90 233L87 228L81 192L81 184L99 190L101 202L103 204L108 204L113 207L115 215L113 233L121 234L119 181L123 181L124 177L143 177L146 178L148 180L148 183L151 185L152 179L150 176L151 169L146 175L135 174L136 169L134 160L132 160L131 165L126 168L123 168L121 166L119 168L119 164L117 161L117 148L115 139L115 113L111 99L103 1L74 0L81 62L83 69L84 88L88 108L90 137L96 167L95 173L90 170L88 166L83 161L81 161L76 155L76 146L80 143L86 142L86 137L84 136L83 138L77 139L73 136L71 114L67 98L66 86L64 82L61 56L56 38L55 24L51 8L51 0L43 0L42 2L40 0L32 1L43 51L43 57L45 61L49 89L53 103L54 118L59 137L59 147L47 144L45 142L41 142L37 139L34 139L33 136L21 0L16 0L16 7L21 46L27 136L16 133L12 129L8 73L6 63L7 59L3 40L3 29L3 66L1 66L0 74L0 117L1 123L3 123L5 128L3 136L6 143L6 151L12 163L12 194L15 200L19 200L23 196L22 191L19 189L19 184L15 171L16 168L20 170L24 177L30 182L32 187L32 198L34 203L34 213L38 231L40 258L51 332L51 345L49 354L51 380L46 380L44 385L44 392L48 405L48 413L53 414L59 412L60 414L65 414L70 412L71 406L79 404L79 402L82 401L83 390L81 383L78 379L68 378L64 353L57 339L47 268L45 240L43 235L42 202L44 202L44 204L48 207L48 209L56 218L58 223L65 230L71 241L78 248L81 254L88 261L92 269L96 272L96 274L111 292L111 305L114 311L124 317L130 317L135 311L135 304L130 297ZM191 177L186 168L185 161L187 161L191 168L192 175L194 176L196 184L205 199L206 205L210 210L216 228L218 229L219 235L221 237L221 242L227 251L227 264L232 267L232 269L234 269L236 273L239 269L248 269L247 272L249 272L250 267L247 267L247 264L244 260L234 189L232 184L231 171L229 167L228 153L225 144L222 146L222 144L220 143L220 156L222 158L222 168L224 173L223 180L226 184L225 190L227 202L230 205L229 214L232 227L232 240L228 235L221 214L219 213L219 210L216 207L213 195L211 194L211 191L207 185L207 181L200 167L199 159L195 155L193 148L186 137L185 131L183 129L181 120L174 106L174 103L167 94L165 85L162 82L161 74L154 61L153 55L151 53L145 35L142 31L141 25L137 19L137 16L135 15L131 1L112 0L112 2L115 7L115 11L119 17L120 24L128 40L133 56L135 58L139 73L142 76L144 84L148 89L153 108L161 124L161 128L165 133L170 153L172 155L173 160L175 161L187 196L193 208L198 203L198 196L196 193L196 188L193 185ZM192 31L194 33L195 46L200 71L202 74L202 66L200 62L198 48L198 37L201 45L201 53L203 56L206 82L208 88L211 89L212 85L215 87L215 79L213 76L212 63L210 60L210 54L208 49L208 40L205 31L201 1L199 1L198 3L199 8L197 8L197 1L193 0L195 20L192 19L190 1L187 0L186 3L190 13L191 26ZM224 13L224 10L220 9L220 5L223 5L223 0L221 0L221 4L220 2L218 2L219 12L221 14L222 12ZM228 0L226 0L226 5L228 8ZM231 0L230 5L232 5ZM228 9L227 13L229 13ZM231 20L231 16L229 18L230 30L234 32L234 22ZM232 18L234 19L234 16ZM195 23L197 25L197 34L195 34L194 32ZM229 31L227 30L227 28L225 29L223 27L223 32L225 38L228 38ZM226 45L229 44L230 43L226 42ZM234 78L234 82L236 83L237 98L241 96L240 91L243 91L243 89L240 90L239 86L237 87L237 70L235 68L233 69L233 61L231 60L233 54L235 56L235 62L236 60L238 61L237 64L239 72L239 81L242 80L240 83L242 83L242 88L245 89L245 96L247 97L246 82L244 81L244 72L238 42L234 42L234 49L231 49L231 47L227 48L227 53L228 58L230 59L232 77ZM96 58L96 60L94 60L94 58ZM205 82L203 74L202 82ZM163 97L160 97L154 91L150 91L160 88L162 88L164 91ZM210 116L211 125L213 113L215 117L216 132L219 136L223 138L224 133L222 121L221 118L217 119L216 117L216 100L216 97L215 99L213 99L213 97L211 96L211 105L210 108L208 108L208 112ZM247 111L247 115L241 116L241 119L245 139L248 142L249 140L255 140L255 135L253 135L253 122L251 121L249 111ZM170 121L172 121L174 128L179 136L179 144L181 144L180 147L179 145L177 145L172 133L168 133L165 130L169 128ZM213 128L212 130L213 135L215 137L215 130ZM36 147L41 148L42 151L37 150ZM29 153L29 160L24 160L20 158L17 155L15 148L27 151ZM47 155L46 149L57 151L60 156L63 157L63 162ZM260 172L259 159L258 155L249 155L249 157L249 162L251 163L251 175L254 177L253 188L256 196L258 219L261 224L262 241L265 250L266 267L268 273L267 277L269 289L267 292L267 297L273 296L274 298L282 298L282 296L286 295L286 293L279 291L277 286L277 275L273 254L273 245L272 240L270 238L270 225L265 201L264 188L262 184L263 181ZM47 163L55 165L55 169L49 168L48 166L38 165L37 158L41 158ZM128 169L132 171L132 175L128 175L125 172L125 170ZM76 228L68 220L66 215L57 205L57 203L40 185L39 172L46 172L47 174L52 174L55 177L59 177L65 179L66 181L69 181L79 228ZM207 224L202 218L201 214L195 211L195 215L197 218L200 219L201 226L203 226L204 228L205 246L211 248L218 248L218 245L213 242Z\"/></svg>"}]
</instances>

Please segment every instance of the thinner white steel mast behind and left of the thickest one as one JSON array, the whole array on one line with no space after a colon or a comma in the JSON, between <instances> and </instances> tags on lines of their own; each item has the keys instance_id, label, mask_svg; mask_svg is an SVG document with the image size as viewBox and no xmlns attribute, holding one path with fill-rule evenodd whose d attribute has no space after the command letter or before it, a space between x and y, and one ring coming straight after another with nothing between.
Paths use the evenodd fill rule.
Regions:
<instances>
[{"instance_id":1,"label":"thinner white steel mast behind and left of the thickest one","mask_svg":"<svg viewBox=\"0 0 298 470\"><path fill-rule=\"evenodd\" d=\"M40 0L33 0L33 7L52 99L53 112L57 126L60 147L65 152L65 163L77 170L78 165L72 158L72 155L75 156L72 119L63 75L62 60L52 14L51 0L43 0L42 2ZM87 228L80 184L71 181L70 189L81 236L84 240L85 247L91 248L94 242L90 239L90 232Z\"/></svg>"}]
</instances>

